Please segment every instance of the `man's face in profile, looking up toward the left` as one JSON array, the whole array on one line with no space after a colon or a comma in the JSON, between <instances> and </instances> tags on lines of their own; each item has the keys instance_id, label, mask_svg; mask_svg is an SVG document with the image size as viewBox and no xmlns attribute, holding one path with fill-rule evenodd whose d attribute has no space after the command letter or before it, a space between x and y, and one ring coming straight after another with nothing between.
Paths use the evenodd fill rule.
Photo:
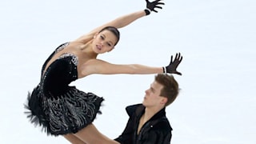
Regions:
<instances>
[{"instance_id":1,"label":"man's face in profile, looking up toward the left","mask_svg":"<svg viewBox=\"0 0 256 144\"><path fill-rule=\"evenodd\" d=\"M142 104L146 107L162 106L166 102L164 97L161 97L161 90L163 86L154 81L150 84L150 88L145 91L145 97Z\"/></svg>"}]
</instances>

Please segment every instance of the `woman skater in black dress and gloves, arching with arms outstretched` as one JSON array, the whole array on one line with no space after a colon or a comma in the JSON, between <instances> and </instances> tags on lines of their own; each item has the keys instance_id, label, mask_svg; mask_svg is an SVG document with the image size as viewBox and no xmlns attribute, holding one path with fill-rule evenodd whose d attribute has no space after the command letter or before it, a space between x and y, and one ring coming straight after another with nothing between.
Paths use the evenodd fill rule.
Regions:
<instances>
[{"instance_id":1,"label":"woman skater in black dress and gloves, arching with arms outstretched","mask_svg":"<svg viewBox=\"0 0 256 144\"><path fill-rule=\"evenodd\" d=\"M138 18L157 12L164 3L146 0L146 10L127 14L90 31L74 42L58 46L42 66L41 81L28 95L28 118L42 126L47 134L63 135L72 143L117 143L99 133L92 124L103 98L69 86L70 82L90 74L181 74L176 68L182 56L176 54L169 66L115 65L97 59L114 49L118 43L118 28Z\"/></svg>"}]
</instances>

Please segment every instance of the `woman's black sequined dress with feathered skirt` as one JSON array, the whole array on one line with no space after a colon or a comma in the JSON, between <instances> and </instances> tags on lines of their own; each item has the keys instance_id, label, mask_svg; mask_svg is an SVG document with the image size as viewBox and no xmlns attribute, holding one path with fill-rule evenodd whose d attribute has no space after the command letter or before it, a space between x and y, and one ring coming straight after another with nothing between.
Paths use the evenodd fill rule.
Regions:
<instances>
[{"instance_id":1,"label":"woman's black sequined dress with feathered skirt","mask_svg":"<svg viewBox=\"0 0 256 144\"><path fill-rule=\"evenodd\" d=\"M103 98L93 93L85 93L70 82L78 79L78 57L62 54L50 64L47 62L69 42L58 46L42 66L41 81L28 95L25 104L30 122L42 126L47 134L59 135L76 133L94 121Z\"/></svg>"}]
</instances>

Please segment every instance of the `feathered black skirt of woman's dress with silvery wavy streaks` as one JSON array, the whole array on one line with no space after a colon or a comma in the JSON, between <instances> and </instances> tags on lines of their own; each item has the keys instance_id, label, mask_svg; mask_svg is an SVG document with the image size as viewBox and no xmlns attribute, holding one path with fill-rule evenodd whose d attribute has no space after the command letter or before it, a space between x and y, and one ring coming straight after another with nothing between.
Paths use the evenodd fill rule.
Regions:
<instances>
[{"instance_id":1,"label":"feathered black skirt of woman's dress with silvery wavy streaks","mask_svg":"<svg viewBox=\"0 0 256 144\"><path fill-rule=\"evenodd\" d=\"M75 86L69 86L65 94L49 98L38 85L28 94L25 113L30 122L42 126L47 134L74 134L94 121L102 101L103 98Z\"/></svg>"}]
</instances>

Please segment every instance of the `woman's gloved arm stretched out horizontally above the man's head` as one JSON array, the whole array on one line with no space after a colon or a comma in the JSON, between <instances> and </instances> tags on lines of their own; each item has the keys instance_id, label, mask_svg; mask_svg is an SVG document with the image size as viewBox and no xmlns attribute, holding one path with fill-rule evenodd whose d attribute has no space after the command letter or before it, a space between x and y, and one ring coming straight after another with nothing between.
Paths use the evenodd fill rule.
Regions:
<instances>
[{"instance_id":1,"label":"woman's gloved arm stretched out horizontally above the man's head","mask_svg":"<svg viewBox=\"0 0 256 144\"><path fill-rule=\"evenodd\" d=\"M182 62L182 55L180 53L170 58L168 66L144 66L139 64L118 65L111 64L99 59L90 59L81 67L79 77L85 77L90 74L178 74L182 73L177 71L178 65Z\"/></svg>"}]
</instances>

